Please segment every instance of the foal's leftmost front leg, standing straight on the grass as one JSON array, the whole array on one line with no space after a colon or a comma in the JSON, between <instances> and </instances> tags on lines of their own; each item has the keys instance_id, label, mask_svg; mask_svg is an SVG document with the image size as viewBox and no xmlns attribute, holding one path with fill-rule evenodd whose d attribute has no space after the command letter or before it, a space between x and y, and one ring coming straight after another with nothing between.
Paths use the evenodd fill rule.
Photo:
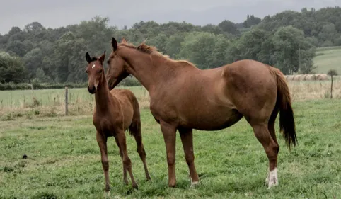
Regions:
<instances>
[{"instance_id":1,"label":"foal's leftmost front leg, standing straight on the grass","mask_svg":"<svg viewBox=\"0 0 341 199\"><path fill-rule=\"evenodd\" d=\"M98 142L98 146L100 147L100 156L102 158L102 166L103 166L104 178L105 178L105 191L110 191L107 137L97 132L96 140Z\"/></svg>"}]
</instances>

